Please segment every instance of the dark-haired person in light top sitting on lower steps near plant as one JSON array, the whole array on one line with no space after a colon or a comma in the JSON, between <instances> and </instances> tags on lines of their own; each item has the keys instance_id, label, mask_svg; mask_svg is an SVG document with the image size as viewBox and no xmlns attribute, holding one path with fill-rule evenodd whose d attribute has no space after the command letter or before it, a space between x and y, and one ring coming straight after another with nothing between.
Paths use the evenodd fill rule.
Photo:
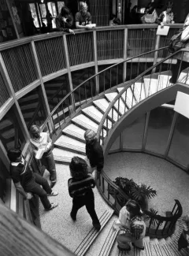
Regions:
<instances>
[{"instance_id":1,"label":"dark-haired person in light top sitting on lower steps near plant","mask_svg":"<svg viewBox=\"0 0 189 256\"><path fill-rule=\"evenodd\" d=\"M120 210L119 219L114 228L119 228L124 233L117 236L117 247L119 250L131 250L132 246L139 250L144 250L143 238L146 233L146 224L143 221L143 212L138 202L128 200L126 205Z\"/></svg>"}]
</instances>

